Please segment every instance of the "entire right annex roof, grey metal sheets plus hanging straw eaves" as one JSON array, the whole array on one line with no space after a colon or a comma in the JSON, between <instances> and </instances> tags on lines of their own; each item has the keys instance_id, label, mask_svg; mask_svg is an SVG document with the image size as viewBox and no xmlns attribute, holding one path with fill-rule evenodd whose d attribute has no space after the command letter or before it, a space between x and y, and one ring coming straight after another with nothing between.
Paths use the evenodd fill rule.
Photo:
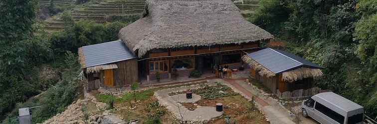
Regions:
<instances>
[{"instance_id":1,"label":"entire right annex roof, grey metal sheets plus hanging straw eaves","mask_svg":"<svg viewBox=\"0 0 377 124\"><path fill-rule=\"evenodd\" d=\"M281 73L282 79L287 82L310 77L318 78L323 75L321 71L323 67L293 54L270 48L247 54L242 60L254 68L259 75L271 77Z\"/></svg>"}]
</instances>

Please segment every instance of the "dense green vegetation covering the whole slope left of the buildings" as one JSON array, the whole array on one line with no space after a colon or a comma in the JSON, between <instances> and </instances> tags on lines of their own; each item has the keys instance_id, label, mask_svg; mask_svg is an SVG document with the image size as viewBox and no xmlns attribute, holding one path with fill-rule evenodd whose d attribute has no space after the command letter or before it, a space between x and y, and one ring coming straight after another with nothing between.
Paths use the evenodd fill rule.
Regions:
<instances>
[{"instance_id":1,"label":"dense green vegetation covering the whole slope left of the buildings","mask_svg":"<svg viewBox=\"0 0 377 124\"><path fill-rule=\"evenodd\" d=\"M64 13L64 30L50 35L35 19L36 4L36 0L0 1L3 17L0 18L3 29L0 31L0 121L7 118L6 123L16 123L19 107L43 105L33 111L37 117L33 123L62 112L77 96L79 84L72 80L79 70L77 49L117 40L118 31L126 25L73 22ZM75 62L67 63L69 60ZM31 98L40 93L43 94Z\"/></svg>"}]
</instances>

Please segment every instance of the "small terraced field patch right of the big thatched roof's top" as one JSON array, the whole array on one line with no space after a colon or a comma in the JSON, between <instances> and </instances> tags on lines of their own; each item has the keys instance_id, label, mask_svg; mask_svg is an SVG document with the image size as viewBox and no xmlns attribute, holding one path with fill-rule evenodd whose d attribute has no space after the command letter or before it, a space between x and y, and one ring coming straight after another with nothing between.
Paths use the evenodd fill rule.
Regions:
<instances>
[{"instance_id":1,"label":"small terraced field patch right of the big thatched roof's top","mask_svg":"<svg viewBox=\"0 0 377 124\"><path fill-rule=\"evenodd\" d=\"M241 9L241 13L244 17L247 17L249 14L253 14L254 10L259 7L259 0L243 0L243 4L235 3L235 5Z\"/></svg>"}]
</instances>

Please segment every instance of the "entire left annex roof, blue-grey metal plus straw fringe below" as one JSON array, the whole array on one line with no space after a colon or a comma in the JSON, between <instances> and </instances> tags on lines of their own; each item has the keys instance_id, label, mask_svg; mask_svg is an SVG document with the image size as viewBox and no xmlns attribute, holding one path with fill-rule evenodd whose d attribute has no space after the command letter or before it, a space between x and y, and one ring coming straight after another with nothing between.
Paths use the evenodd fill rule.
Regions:
<instances>
[{"instance_id":1,"label":"entire left annex roof, blue-grey metal plus straw fringe below","mask_svg":"<svg viewBox=\"0 0 377 124\"><path fill-rule=\"evenodd\" d=\"M121 40L81 47L78 55L81 68L87 72L118 68L116 62L136 58Z\"/></svg>"}]
</instances>

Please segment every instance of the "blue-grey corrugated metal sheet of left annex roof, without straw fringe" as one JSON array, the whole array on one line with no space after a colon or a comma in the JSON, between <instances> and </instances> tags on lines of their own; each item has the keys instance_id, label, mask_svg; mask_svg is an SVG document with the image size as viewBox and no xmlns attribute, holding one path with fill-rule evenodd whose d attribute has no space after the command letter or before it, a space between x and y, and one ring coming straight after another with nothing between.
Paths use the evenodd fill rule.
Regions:
<instances>
[{"instance_id":1,"label":"blue-grey corrugated metal sheet of left annex roof, without straw fringe","mask_svg":"<svg viewBox=\"0 0 377 124\"><path fill-rule=\"evenodd\" d=\"M112 41L82 47L86 67L136 58L121 41Z\"/></svg>"}]
</instances>

